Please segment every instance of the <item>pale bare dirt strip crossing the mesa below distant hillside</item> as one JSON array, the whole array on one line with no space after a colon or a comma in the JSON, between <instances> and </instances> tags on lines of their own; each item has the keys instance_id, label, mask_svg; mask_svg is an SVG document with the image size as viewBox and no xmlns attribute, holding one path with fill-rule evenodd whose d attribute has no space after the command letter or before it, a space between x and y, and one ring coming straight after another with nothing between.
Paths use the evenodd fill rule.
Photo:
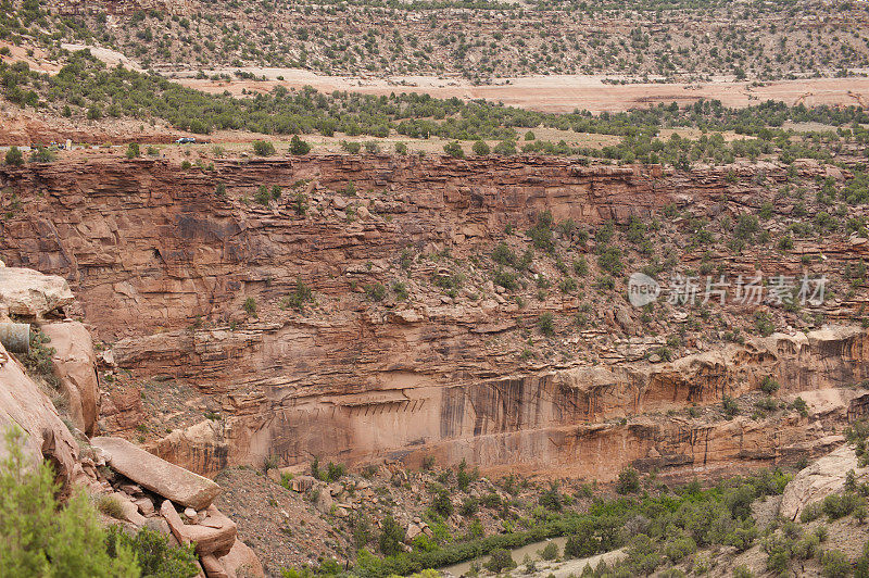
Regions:
<instances>
[{"instance_id":1,"label":"pale bare dirt strip crossing the mesa below distant hillside","mask_svg":"<svg viewBox=\"0 0 869 578\"><path fill-rule=\"evenodd\" d=\"M788 104L866 105L869 103L869 78L810 78L778 80L766 86L751 87L747 83L713 81L701 85L643 84L607 85L589 76L546 76L513 78L511 84L470 86L455 79L416 77L389 83L382 79L358 79L338 76L317 76L306 71L262 68L251 70L267 80L232 80L218 83L209 79L179 78L178 81L204 90L229 90L241 95L242 89L267 92L275 86L301 88L305 85L330 92L351 90L368 95L390 92L426 92L432 97L487 99L542 112L570 112L585 109L592 112L618 112L658 102L690 104L701 99L719 99L726 106L742 108L772 99ZM282 76L284 80L278 80ZM400 84L404 80L404 84Z\"/></svg>"}]
</instances>

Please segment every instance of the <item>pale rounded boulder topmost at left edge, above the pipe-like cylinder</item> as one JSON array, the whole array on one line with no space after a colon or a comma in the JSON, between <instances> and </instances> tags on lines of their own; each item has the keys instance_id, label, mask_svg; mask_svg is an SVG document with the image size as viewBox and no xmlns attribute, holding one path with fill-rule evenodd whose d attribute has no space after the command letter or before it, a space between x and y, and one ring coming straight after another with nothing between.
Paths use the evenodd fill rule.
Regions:
<instances>
[{"instance_id":1,"label":"pale rounded boulder topmost at left edge, above the pipe-like cylinder","mask_svg":"<svg viewBox=\"0 0 869 578\"><path fill-rule=\"evenodd\" d=\"M73 299L63 277L21 267L0 268L0 304L10 315L42 318Z\"/></svg>"}]
</instances>

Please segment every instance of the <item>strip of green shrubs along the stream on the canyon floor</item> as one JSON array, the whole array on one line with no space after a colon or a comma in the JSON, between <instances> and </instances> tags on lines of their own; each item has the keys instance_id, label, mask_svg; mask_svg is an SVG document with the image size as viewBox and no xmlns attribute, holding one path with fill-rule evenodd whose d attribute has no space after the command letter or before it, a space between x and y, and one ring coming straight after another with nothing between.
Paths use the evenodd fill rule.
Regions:
<instances>
[{"instance_id":1,"label":"strip of green shrubs along the stream on the canyon floor","mask_svg":"<svg viewBox=\"0 0 869 578\"><path fill-rule=\"evenodd\" d=\"M464 542L446 543L379 558L361 550L351 574L365 577L406 576L426 568L440 568L502 550L567 536L565 557L583 557L628 546L624 569L645 574L710 544L747 550L758 537L751 503L764 495L780 494L790 476L780 470L734 478L703 490L697 482L676 491L660 489L652 495L597 499L585 513L546 512L533 527ZM638 525L638 520L642 524ZM498 554L499 565L505 562Z\"/></svg>"}]
</instances>

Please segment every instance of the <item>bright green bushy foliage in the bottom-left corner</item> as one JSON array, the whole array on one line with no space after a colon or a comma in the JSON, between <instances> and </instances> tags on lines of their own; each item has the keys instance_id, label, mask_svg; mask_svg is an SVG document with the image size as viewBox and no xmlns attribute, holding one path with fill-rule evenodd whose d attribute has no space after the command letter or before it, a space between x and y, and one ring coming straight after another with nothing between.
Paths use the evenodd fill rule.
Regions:
<instances>
[{"instance_id":1,"label":"bright green bushy foliage in the bottom-left corner","mask_svg":"<svg viewBox=\"0 0 869 578\"><path fill-rule=\"evenodd\" d=\"M0 576L190 578L199 573L191 546L173 548L143 529L106 531L87 494L61 504L48 462L28 468L18 429L5 434L0 461Z\"/></svg>"}]
</instances>

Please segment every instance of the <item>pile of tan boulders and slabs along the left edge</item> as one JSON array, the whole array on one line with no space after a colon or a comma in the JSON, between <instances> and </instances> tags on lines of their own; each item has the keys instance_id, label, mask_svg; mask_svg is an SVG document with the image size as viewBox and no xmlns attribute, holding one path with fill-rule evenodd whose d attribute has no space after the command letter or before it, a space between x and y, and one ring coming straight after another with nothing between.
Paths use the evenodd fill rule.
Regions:
<instances>
[{"instance_id":1,"label":"pile of tan boulders and slabs along the left edge","mask_svg":"<svg viewBox=\"0 0 869 578\"><path fill-rule=\"evenodd\" d=\"M116 502L114 519L106 523L128 525L131 530L151 528L174 545L194 544L201 576L264 576L256 554L238 539L236 524L213 505L221 493L217 483L127 440L88 440L99 429L99 384L90 335L78 322L46 319L49 314L63 318L63 307L72 301L63 278L4 267L0 262L0 321L8 314L23 316L50 337L53 373L68 402L68 415L62 417L24 366L0 344L0 430L21 428L28 460L51 460L65 490L80 485L101 500ZM0 448L0 457L3 452Z\"/></svg>"}]
</instances>

